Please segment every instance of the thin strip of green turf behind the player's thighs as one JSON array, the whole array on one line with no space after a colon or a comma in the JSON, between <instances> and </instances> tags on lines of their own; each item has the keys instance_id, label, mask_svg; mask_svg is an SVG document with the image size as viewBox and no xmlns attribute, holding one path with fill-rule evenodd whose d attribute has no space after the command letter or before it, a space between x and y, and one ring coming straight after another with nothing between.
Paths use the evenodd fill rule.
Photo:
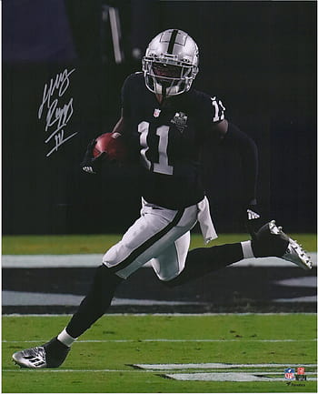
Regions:
<instances>
[{"instance_id":1,"label":"thin strip of green turf behind the player's thighs","mask_svg":"<svg viewBox=\"0 0 318 394\"><path fill-rule=\"evenodd\" d=\"M308 251L317 249L315 234L291 234L303 244ZM121 238L121 235L67 235L67 236L4 236L2 253L4 255L36 255L36 254L73 254L73 253L104 253ZM221 234L208 246L240 242L250 239L247 234ZM203 237L193 234L190 248L202 248Z\"/></svg>"}]
</instances>

